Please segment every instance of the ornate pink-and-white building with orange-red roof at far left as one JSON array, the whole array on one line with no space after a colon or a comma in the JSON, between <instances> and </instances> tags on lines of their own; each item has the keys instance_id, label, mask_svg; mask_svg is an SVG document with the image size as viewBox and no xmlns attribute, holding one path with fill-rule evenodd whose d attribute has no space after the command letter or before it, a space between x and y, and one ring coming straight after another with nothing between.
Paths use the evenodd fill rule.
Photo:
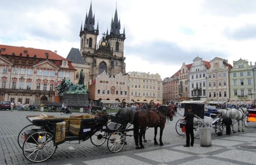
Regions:
<instances>
[{"instance_id":1,"label":"ornate pink-and-white building with orange-red roof at far left","mask_svg":"<svg viewBox=\"0 0 256 165\"><path fill-rule=\"evenodd\" d=\"M50 50L0 45L0 100L35 104L54 102L55 87L73 82L71 61Z\"/></svg>"}]
</instances>

